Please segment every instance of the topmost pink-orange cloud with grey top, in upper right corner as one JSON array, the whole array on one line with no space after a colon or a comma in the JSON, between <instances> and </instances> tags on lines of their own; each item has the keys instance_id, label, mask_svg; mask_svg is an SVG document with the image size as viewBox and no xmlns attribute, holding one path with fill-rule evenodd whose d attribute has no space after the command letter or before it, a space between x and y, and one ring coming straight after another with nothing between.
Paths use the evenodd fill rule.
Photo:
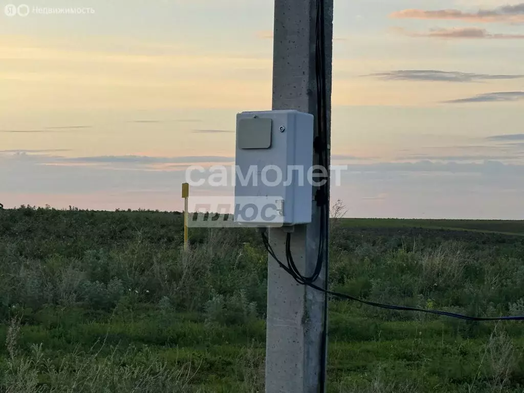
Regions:
<instances>
[{"instance_id":1,"label":"topmost pink-orange cloud with grey top, in upper right corner","mask_svg":"<svg viewBox=\"0 0 524 393\"><path fill-rule=\"evenodd\" d=\"M395 19L439 19L461 20L472 23L524 23L524 3L506 5L494 9L480 9L474 13L463 12L459 9L404 9L390 15Z\"/></svg>"}]
</instances>

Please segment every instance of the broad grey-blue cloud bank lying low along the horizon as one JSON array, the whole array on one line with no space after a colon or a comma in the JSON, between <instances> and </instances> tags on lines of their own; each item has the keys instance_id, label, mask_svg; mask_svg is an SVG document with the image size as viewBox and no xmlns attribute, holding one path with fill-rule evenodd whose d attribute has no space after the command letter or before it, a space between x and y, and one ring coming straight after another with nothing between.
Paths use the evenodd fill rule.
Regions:
<instances>
[{"instance_id":1,"label":"broad grey-blue cloud bank lying low along the horizon","mask_svg":"<svg viewBox=\"0 0 524 393\"><path fill-rule=\"evenodd\" d=\"M128 170L102 166L40 165L49 158L0 155L0 200L20 204L114 210L181 210L185 170ZM488 163L381 163L350 165L333 200L362 217L521 219L524 166ZM124 173L124 175L123 175ZM210 172L193 180L205 179ZM453 173L453 174L452 174ZM24 181L20 181L24 179ZM193 187L194 195L233 195L232 187ZM174 195L174 196L173 196ZM381 198L385 196L387 203Z\"/></svg>"}]
</instances>

